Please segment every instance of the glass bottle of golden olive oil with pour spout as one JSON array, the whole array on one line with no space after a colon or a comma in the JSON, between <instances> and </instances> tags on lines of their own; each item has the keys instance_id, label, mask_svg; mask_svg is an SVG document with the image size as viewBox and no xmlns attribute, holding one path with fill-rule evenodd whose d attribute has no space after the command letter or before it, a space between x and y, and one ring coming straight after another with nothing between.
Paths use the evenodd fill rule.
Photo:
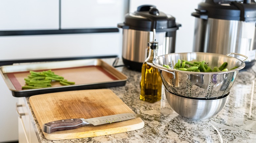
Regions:
<instances>
[{"instance_id":1,"label":"glass bottle of golden olive oil with pour spout","mask_svg":"<svg viewBox=\"0 0 256 143\"><path fill-rule=\"evenodd\" d=\"M140 100L155 103L161 100L162 80L157 68L147 64L152 63L157 56L158 42L149 42L149 54L141 67Z\"/></svg>"}]
</instances>

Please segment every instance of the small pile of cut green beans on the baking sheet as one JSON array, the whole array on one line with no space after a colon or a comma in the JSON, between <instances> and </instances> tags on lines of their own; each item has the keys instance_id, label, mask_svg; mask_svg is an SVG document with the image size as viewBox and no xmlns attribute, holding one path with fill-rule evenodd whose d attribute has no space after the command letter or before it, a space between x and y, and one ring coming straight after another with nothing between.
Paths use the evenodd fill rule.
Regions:
<instances>
[{"instance_id":1,"label":"small pile of cut green beans on the baking sheet","mask_svg":"<svg viewBox=\"0 0 256 143\"><path fill-rule=\"evenodd\" d=\"M64 77L59 76L52 72L51 70L36 72L30 71L27 78L24 78L26 85L22 89L34 89L34 88L44 88L52 87L51 82L59 82L61 85L74 85L75 82L68 81Z\"/></svg>"}]
</instances>

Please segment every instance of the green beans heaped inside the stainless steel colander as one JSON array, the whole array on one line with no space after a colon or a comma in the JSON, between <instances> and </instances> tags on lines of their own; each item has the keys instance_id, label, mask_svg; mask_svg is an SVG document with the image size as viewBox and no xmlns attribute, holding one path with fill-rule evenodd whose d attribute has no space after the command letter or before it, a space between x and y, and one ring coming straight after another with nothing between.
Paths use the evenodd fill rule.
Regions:
<instances>
[{"instance_id":1,"label":"green beans heaped inside the stainless steel colander","mask_svg":"<svg viewBox=\"0 0 256 143\"><path fill-rule=\"evenodd\" d=\"M181 62L182 61L182 62ZM163 67L167 69L172 69L169 65L163 65ZM221 64L221 66L213 67L213 69L206 63L204 60L203 61L186 61L186 60L181 60L178 59L178 62L174 65L175 70L180 70L180 71L194 71L194 72L218 72L218 71L228 71L227 67L227 62L224 62ZM238 67L231 68L229 70L236 69Z\"/></svg>"}]
</instances>

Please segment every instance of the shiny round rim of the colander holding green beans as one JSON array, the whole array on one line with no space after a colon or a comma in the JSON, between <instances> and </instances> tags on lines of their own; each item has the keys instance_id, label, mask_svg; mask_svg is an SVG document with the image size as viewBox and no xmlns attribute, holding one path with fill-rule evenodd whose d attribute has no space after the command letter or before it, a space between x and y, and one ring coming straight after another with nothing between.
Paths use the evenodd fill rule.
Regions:
<instances>
[{"instance_id":1,"label":"shiny round rim of the colander holding green beans","mask_svg":"<svg viewBox=\"0 0 256 143\"><path fill-rule=\"evenodd\" d=\"M223 55L223 54L216 54L216 53L204 53L204 52L184 52L184 53L169 53L169 54L165 54L165 55L175 55L175 54L209 54L209 55L219 55L219 56L227 56L227 55ZM165 55L161 55L161 56L165 56ZM233 69L233 70L228 70L228 71L218 71L218 72L195 72L195 71L180 71L180 70L174 70L174 69L168 69L166 67L163 67L161 65L159 65L158 63L156 63L156 60L157 58L160 57L160 56L157 56L156 58L153 59L153 64L155 66L157 66L160 70L161 69L164 69L164 70L167 70L167 71L175 71L175 72L182 72L182 73L189 73L189 74L223 74L223 73L229 73L229 72L234 72L234 71L239 71L239 70L242 70L244 67L245 67L245 62L242 61L241 59L238 59L238 58L235 58L233 56L228 56L230 58L235 58L239 61L241 61L241 66L239 66L238 68L236 69Z\"/></svg>"}]
</instances>

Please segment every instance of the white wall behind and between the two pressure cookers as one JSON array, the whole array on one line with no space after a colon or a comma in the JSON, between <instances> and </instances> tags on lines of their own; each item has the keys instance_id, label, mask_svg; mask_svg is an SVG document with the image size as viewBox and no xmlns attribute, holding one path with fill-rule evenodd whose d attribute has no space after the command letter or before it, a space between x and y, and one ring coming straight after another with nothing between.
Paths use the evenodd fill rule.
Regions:
<instances>
[{"instance_id":1,"label":"white wall behind and between the two pressure cookers","mask_svg":"<svg viewBox=\"0 0 256 143\"><path fill-rule=\"evenodd\" d=\"M130 12L137 10L140 5L155 5L159 11L176 18L181 27L177 30L176 53L192 52L195 18L191 16L195 8L203 0L130 0Z\"/></svg>"}]
</instances>

